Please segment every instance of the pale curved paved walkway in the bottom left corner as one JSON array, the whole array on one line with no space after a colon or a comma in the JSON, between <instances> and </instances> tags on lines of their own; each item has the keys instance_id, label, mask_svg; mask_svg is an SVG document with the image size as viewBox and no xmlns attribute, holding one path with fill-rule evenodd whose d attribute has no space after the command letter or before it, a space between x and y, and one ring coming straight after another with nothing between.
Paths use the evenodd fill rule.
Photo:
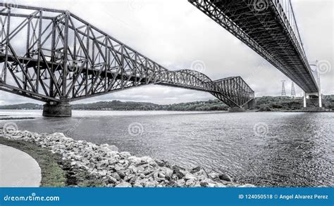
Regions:
<instances>
[{"instance_id":1,"label":"pale curved paved walkway in the bottom left corner","mask_svg":"<svg viewBox=\"0 0 334 206\"><path fill-rule=\"evenodd\" d=\"M0 144L0 187L38 187L41 168L21 150Z\"/></svg>"}]
</instances>

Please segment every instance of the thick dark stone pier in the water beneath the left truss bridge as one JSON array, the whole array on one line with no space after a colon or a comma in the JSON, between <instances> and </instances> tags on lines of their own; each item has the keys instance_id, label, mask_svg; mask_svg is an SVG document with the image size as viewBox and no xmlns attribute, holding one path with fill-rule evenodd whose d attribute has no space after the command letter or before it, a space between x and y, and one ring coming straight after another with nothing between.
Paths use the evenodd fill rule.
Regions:
<instances>
[{"instance_id":1,"label":"thick dark stone pier in the water beneath the left truss bridge","mask_svg":"<svg viewBox=\"0 0 334 206\"><path fill-rule=\"evenodd\" d=\"M71 117L72 106L68 98L61 97L60 102L49 102L43 105L44 117Z\"/></svg>"}]
</instances>

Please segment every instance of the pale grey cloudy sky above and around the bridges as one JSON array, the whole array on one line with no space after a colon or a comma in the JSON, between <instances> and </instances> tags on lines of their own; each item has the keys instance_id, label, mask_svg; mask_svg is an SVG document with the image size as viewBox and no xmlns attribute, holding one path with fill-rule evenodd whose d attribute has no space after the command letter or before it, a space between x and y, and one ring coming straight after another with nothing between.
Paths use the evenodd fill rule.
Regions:
<instances>
[{"instance_id":1,"label":"pale grey cloudy sky above and around the bridges","mask_svg":"<svg viewBox=\"0 0 334 206\"><path fill-rule=\"evenodd\" d=\"M1 0L1 2L4 0ZM6 0L5 0L6 1ZM279 96L281 80L290 94L291 81L187 0L8 0L29 6L67 9L140 51L169 70L204 63L211 79L241 76L256 96ZM323 94L334 94L333 1L292 0L310 63L330 63L321 76ZM297 96L302 90L296 85ZM147 101L180 103L213 99L210 94L168 86L143 86L81 102ZM0 91L0 104L35 102ZM79 102L78 102L79 103Z\"/></svg>"}]
</instances>

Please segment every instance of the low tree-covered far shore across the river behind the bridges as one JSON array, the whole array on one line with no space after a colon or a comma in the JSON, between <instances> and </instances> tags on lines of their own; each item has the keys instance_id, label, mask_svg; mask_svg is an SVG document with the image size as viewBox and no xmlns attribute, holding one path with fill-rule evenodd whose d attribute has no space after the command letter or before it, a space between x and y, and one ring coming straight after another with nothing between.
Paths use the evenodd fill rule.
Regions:
<instances>
[{"instance_id":1,"label":"low tree-covered far shore across the river behind the bridges","mask_svg":"<svg viewBox=\"0 0 334 206\"><path fill-rule=\"evenodd\" d=\"M301 97L290 98L283 96L263 96L256 98L256 110L259 111L287 111L300 110L303 99ZM312 107L311 103L308 103ZM315 105L313 105L315 106ZM323 96L323 107L334 110L334 95ZM25 103L19 105L0 106L0 110L41 110L42 105ZM73 104L73 110L174 110L174 111L214 111L228 110L228 106L215 100L194 101L190 103L175 103L170 105L158 105L144 102L100 101L96 103Z\"/></svg>"}]
</instances>

